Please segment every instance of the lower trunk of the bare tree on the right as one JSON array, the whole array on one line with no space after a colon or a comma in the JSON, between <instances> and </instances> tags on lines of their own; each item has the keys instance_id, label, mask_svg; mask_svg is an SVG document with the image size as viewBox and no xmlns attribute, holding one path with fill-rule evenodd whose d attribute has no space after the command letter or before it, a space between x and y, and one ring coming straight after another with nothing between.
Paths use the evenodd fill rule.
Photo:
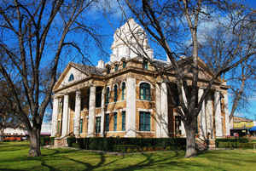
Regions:
<instances>
[{"instance_id":1,"label":"lower trunk of the bare tree on the right","mask_svg":"<svg viewBox=\"0 0 256 171\"><path fill-rule=\"evenodd\" d=\"M195 148L195 126L196 123L190 123L190 124L184 124L185 131L186 131L186 154L185 157L195 157L197 154L196 148Z\"/></svg>"}]
</instances>

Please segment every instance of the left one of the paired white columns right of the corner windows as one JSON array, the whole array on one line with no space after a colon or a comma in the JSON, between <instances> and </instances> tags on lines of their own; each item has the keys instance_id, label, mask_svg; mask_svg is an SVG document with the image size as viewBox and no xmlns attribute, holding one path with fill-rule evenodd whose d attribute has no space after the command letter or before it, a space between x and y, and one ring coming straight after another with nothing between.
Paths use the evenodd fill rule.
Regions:
<instances>
[{"instance_id":1,"label":"left one of the paired white columns right of the corner windows","mask_svg":"<svg viewBox=\"0 0 256 171\"><path fill-rule=\"evenodd\" d=\"M157 138L161 137L161 97L160 97L160 85L155 86L155 134Z\"/></svg>"}]
</instances>

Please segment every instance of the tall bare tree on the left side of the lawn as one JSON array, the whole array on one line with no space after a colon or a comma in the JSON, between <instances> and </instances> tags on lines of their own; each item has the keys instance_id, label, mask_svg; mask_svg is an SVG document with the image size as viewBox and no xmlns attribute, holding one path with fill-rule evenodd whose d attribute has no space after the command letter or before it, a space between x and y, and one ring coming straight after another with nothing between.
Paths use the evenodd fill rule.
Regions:
<instances>
[{"instance_id":1,"label":"tall bare tree on the left side of the lawn","mask_svg":"<svg viewBox=\"0 0 256 171\"><path fill-rule=\"evenodd\" d=\"M86 32L86 37L96 39L94 30L85 24L85 12L92 3L95 1L3 0L1 3L0 73L11 89L20 119L26 125L30 137L29 156L41 155L41 125L55 85L61 52L65 47L71 47L82 54L76 38L71 37L79 31ZM45 77L48 79L41 80L46 66L48 71ZM18 78L14 77L14 72ZM17 79L26 96L28 115L15 88L14 80Z\"/></svg>"}]
</instances>

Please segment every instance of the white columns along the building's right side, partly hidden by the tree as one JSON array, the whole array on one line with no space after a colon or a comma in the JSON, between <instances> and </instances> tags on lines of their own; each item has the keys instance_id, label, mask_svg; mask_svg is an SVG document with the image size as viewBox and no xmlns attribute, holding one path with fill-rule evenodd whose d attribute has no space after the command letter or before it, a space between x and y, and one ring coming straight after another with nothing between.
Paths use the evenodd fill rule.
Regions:
<instances>
[{"instance_id":1,"label":"white columns along the building's right side, partly hidden by the tree","mask_svg":"<svg viewBox=\"0 0 256 171\"><path fill-rule=\"evenodd\" d=\"M201 99L204 93L203 88L199 88L198 99ZM185 94L183 93L183 97ZM156 108L156 137L167 137L168 136L168 93L166 83L161 83L156 85L155 94L155 108ZM186 102L186 98L185 102ZM222 137L224 135L230 135L230 122L229 122L229 111L228 111L228 97L224 94L224 113L225 113L225 128L226 132L223 132L223 122L221 116L221 98L220 92L214 92L214 109L212 109L212 98L209 96L205 101L203 101L201 106L201 111L198 117L199 121L199 134L207 138L208 134L213 138L213 119L215 120L215 130L216 137ZM215 112L215 117L213 118L213 112ZM185 135L183 122L181 125L182 134Z\"/></svg>"}]
</instances>

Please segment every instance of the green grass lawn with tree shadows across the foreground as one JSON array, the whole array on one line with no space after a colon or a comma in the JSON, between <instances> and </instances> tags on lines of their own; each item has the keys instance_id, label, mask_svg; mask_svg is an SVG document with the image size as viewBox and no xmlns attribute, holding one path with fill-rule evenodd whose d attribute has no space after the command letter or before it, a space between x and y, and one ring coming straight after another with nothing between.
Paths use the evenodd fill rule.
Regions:
<instances>
[{"instance_id":1,"label":"green grass lawn with tree shadows across the foreground","mask_svg":"<svg viewBox=\"0 0 256 171\"><path fill-rule=\"evenodd\" d=\"M42 149L27 157L27 142L0 143L0 170L256 170L256 150L207 151L183 158L183 151L157 151L123 156L68 149Z\"/></svg>"}]
</instances>

